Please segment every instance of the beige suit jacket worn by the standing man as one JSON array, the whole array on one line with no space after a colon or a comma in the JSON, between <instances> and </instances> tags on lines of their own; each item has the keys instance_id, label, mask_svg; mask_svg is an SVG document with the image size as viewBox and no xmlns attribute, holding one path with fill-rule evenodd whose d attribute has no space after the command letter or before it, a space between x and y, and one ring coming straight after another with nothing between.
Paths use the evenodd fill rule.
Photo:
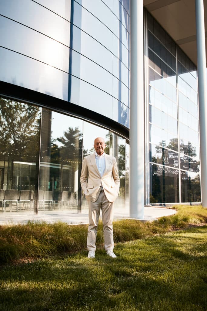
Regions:
<instances>
[{"instance_id":1,"label":"beige suit jacket worn by the standing man","mask_svg":"<svg viewBox=\"0 0 207 311\"><path fill-rule=\"evenodd\" d=\"M106 168L101 177L96 165L95 153L83 159L80 183L88 201L95 202L97 200L101 187L103 187L109 202L114 202L118 196L120 179L116 159L105 154L105 163Z\"/></svg>"}]
</instances>

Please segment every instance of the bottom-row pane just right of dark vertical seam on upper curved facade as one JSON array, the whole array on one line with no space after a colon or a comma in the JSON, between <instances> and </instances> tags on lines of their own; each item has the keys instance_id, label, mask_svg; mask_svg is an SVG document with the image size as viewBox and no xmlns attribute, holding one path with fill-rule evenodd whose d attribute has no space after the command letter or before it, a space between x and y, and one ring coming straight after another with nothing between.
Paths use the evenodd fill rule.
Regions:
<instances>
[{"instance_id":1,"label":"bottom-row pane just right of dark vertical seam on upper curved facade","mask_svg":"<svg viewBox=\"0 0 207 311\"><path fill-rule=\"evenodd\" d=\"M95 86L69 75L69 101L112 118L112 96Z\"/></svg>"}]
</instances>

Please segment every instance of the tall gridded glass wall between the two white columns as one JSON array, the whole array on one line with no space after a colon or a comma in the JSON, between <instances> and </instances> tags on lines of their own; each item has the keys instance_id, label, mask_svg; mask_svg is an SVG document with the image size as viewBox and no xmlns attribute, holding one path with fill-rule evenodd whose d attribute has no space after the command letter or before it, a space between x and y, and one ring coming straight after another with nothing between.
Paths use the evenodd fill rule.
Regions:
<instances>
[{"instance_id":1,"label":"tall gridded glass wall between the two white columns","mask_svg":"<svg viewBox=\"0 0 207 311\"><path fill-rule=\"evenodd\" d=\"M200 202L197 75L147 13L150 203Z\"/></svg>"}]
</instances>

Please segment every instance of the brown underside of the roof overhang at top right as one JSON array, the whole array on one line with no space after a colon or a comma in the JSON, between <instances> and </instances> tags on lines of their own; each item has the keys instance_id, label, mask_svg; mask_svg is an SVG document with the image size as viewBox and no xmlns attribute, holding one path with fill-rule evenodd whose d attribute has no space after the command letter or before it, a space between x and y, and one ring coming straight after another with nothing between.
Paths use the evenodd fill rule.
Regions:
<instances>
[{"instance_id":1,"label":"brown underside of the roof overhang at top right","mask_svg":"<svg viewBox=\"0 0 207 311\"><path fill-rule=\"evenodd\" d=\"M143 4L197 66L195 0L143 0ZM207 1L204 0L205 29L206 13ZM207 40L205 49L207 51Z\"/></svg>"}]
</instances>

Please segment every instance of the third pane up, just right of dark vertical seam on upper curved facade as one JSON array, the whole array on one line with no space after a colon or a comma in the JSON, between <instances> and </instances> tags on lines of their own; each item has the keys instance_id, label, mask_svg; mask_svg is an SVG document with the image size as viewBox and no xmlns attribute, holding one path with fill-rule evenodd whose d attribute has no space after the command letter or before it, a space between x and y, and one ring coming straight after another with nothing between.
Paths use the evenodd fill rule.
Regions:
<instances>
[{"instance_id":1,"label":"third pane up, just right of dark vertical seam on upper curved facade","mask_svg":"<svg viewBox=\"0 0 207 311\"><path fill-rule=\"evenodd\" d=\"M88 57L95 63L106 68L106 70L117 76L118 72L114 73L113 70L114 66L112 65L113 54L108 49L106 49L102 44L100 44L97 40L93 39L91 36L86 34L84 31L80 30L75 25L73 25L71 28L72 28L72 36L73 38L75 38L72 42L71 48L83 54L84 56ZM118 58L116 59L118 63Z\"/></svg>"}]
</instances>

